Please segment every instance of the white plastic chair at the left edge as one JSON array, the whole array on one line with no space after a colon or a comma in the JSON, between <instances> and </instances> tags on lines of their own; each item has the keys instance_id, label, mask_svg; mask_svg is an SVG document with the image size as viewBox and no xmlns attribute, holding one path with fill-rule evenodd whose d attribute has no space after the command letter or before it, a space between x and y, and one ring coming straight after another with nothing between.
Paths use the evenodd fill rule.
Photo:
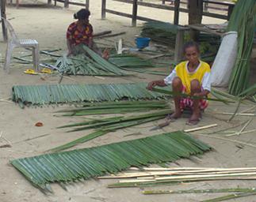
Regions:
<instances>
[{"instance_id":1,"label":"white plastic chair at the left edge","mask_svg":"<svg viewBox=\"0 0 256 202\"><path fill-rule=\"evenodd\" d=\"M33 67L37 71L39 65L39 44L36 41L36 39L18 39L16 33L13 30L13 26L10 24L10 22L3 17L2 21L4 21L4 23L6 24L6 28L8 28L10 32L10 37L8 37L6 48L6 62L4 64L3 69L5 69L7 73L10 73L10 58L12 57L14 47L31 47Z\"/></svg>"}]
</instances>

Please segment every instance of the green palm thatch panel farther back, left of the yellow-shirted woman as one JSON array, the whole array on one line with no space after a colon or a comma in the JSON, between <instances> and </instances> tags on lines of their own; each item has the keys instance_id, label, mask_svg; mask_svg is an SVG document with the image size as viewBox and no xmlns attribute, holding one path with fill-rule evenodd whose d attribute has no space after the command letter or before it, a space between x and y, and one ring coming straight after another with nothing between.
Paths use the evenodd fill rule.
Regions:
<instances>
[{"instance_id":1,"label":"green palm thatch panel farther back, left of the yellow-shirted woman","mask_svg":"<svg viewBox=\"0 0 256 202\"><path fill-rule=\"evenodd\" d=\"M146 87L146 83L13 86L13 101L45 105L164 98L164 95L150 92Z\"/></svg>"}]
</instances>

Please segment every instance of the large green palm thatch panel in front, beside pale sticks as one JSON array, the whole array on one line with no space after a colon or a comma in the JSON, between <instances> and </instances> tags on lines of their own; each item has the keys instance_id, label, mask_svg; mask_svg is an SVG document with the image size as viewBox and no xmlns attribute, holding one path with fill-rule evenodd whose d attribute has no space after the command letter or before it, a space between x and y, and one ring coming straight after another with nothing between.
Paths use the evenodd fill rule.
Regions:
<instances>
[{"instance_id":1,"label":"large green palm thatch panel in front, beside pale sticks","mask_svg":"<svg viewBox=\"0 0 256 202\"><path fill-rule=\"evenodd\" d=\"M72 182L114 174L130 166L174 162L189 158L190 155L203 154L210 149L200 140L177 131L94 148L14 159L10 163L32 185L44 191L52 191L49 186L52 182Z\"/></svg>"}]
</instances>

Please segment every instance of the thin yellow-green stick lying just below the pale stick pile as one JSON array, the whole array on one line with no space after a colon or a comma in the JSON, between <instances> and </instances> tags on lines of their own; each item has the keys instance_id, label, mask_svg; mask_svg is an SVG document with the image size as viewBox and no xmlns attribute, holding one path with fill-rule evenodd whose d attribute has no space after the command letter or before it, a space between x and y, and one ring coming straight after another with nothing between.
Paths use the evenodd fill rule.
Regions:
<instances>
[{"instance_id":1,"label":"thin yellow-green stick lying just below the pale stick pile","mask_svg":"<svg viewBox=\"0 0 256 202\"><path fill-rule=\"evenodd\" d=\"M228 189L189 189L189 190L146 190L145 195L151 194L176 194L176 193L250 193L254 188L228 188Z\"/></svg>"}]
</instances>

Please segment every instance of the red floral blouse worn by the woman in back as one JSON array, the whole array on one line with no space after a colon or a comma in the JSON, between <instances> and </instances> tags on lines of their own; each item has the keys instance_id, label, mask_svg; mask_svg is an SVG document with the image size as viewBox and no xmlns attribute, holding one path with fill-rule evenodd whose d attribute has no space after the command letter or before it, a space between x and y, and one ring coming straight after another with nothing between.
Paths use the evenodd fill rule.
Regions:
<instances>
[{"instance_id":1,"label":"red floral blouse worn by the woman in back","mask_svg":"<svg viewBox=\"0 0 256 202\"><path fill-rule=\"evenodd\" d=\"M90 39L93 38L93 26L87 24L82 29L78 28L78 21L71 23L67 28L67 39L71 39L72 45L84 43L88 46Z\"/></svg>"}]
</instances>

